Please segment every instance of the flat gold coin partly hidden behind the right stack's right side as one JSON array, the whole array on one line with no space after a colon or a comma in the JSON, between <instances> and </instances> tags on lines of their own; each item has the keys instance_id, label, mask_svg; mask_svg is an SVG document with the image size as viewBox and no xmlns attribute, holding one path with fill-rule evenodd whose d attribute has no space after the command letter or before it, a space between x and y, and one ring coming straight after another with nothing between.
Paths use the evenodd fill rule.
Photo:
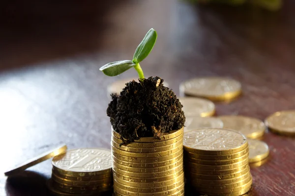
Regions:
<instances>
[{"instance_id":1,"label":"flat gold coin partly hidden behind the right stack's right side","mask_svg":"<svg viewBox=\"0 0 295 196\"><path fill-rule=\"evenodd\" d=\"M269 148L265 142L259 140L248 140L249 163L254 163L265 159L269 154Z\"/></svg>"}]
</instances>

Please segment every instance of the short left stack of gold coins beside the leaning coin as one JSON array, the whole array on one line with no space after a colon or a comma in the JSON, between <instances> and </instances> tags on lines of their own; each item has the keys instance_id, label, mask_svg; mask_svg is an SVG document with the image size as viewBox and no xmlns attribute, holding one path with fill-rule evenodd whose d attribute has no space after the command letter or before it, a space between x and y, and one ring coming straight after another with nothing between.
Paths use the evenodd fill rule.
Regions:
<instances>
[{"instance_id":1,"label":"short left stack of gold coins beside the leaning coin","mask_svg":"<svg viewBox=\"0 0 295 196\"><path fill-rule=\"evenodd\" d=\"M111 150L68 150L52 161L52 178L47 185L56 196L99 196L113 185Z\"/></svg>"}]
</instances>

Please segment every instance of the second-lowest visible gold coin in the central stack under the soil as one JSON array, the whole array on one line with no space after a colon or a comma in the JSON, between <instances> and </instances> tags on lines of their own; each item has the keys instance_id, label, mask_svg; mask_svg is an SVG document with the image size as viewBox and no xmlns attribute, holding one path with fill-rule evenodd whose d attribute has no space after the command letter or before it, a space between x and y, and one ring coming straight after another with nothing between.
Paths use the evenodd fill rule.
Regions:
<instances>
[{"instance_id":1,"label":"second-lowest visible gold coin in the central stack under the soil","mask_svg":"<svg viewBox=\"0 0 295 196\"><path fill-rule=\"evenodd\" d=\"M163 186L171 185L171 184L174 184L180 180L184 180L184 173L181 173L179 176L177 176L173 179L170 179L170 180L161 181L161 182L152 182L152 183L130 182L130 181L126 181L121 178L118 178L116 176L114 176L114 179L116 181L118 181L120 184L125 184L125 185L131 186L131 187L154 188L154 187L163 187Z\"/></svg>"}]
</instances>

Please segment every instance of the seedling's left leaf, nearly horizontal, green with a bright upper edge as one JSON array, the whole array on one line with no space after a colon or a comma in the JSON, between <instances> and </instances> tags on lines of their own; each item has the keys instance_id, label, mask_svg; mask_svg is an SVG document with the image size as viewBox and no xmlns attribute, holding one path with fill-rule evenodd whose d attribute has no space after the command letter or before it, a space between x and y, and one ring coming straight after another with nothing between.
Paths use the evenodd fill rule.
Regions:
<instances>
[{"instance_id":1,"label":"seedling's left leaf, nearly horizontal, green with a bright upper edge","mask_svg":"<svg viewBox=\"0 0 295 196\"><path fill-rule=\"evenodd\" d=\"M101 68L99 68L100 71L102 71L104 74L108 76L116 76L120 73L123 73L130 68L136 66L135 63L133 63L130 60L124 60L124 61L116 61L112 63L108 63Z\"/></svg>"}]
</instances>

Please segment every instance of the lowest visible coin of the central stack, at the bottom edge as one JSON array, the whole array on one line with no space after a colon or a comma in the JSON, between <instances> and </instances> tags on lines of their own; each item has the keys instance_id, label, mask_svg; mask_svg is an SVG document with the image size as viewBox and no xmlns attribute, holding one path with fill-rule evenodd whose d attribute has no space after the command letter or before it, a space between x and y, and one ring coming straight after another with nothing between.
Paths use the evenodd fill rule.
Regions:
<instances>
[{"instance_id":1,"label":"lowest visible coin of the central stack, at the bottom edge","mask_svg":"<svg viewBox=\"0 0 295 196\"><path fill-rule=\"evenodd\" d=\"M137 192L131 192L131 191L127 191L124 189L120 189L117 186L114 186L114 192L119 193L119 194L123 194L123 195L127 195L127 196L170 196L170 195L173 195L176 193L183 193L184 192L184 183L174 189L166 190L163 192L137 193Z\"/></svg>"}]
</instances>

